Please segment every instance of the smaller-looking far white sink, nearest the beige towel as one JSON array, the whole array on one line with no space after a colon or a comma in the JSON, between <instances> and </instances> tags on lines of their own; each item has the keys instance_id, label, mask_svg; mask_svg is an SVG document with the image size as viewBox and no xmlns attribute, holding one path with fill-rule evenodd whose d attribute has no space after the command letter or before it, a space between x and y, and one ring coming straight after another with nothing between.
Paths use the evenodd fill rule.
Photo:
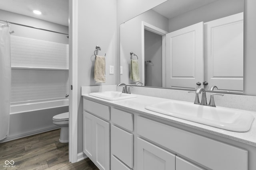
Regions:
<instances>
[{"instance_id":1,"label":"smaller-looking far white sink, nearest the beige towel","mask_svg":"<svg viewBox=\"0 0 256 170\"><path fill-rule=\"evenodd\" d=\"M107 92L95 92L90 93L90 96L94 96L96 98L101 98L105 100L123 100L129 98L136 98L137 96L134 94L126 94L122 92L115 92L115 91L107 91Z\"/></svg>"}]
</instances>

